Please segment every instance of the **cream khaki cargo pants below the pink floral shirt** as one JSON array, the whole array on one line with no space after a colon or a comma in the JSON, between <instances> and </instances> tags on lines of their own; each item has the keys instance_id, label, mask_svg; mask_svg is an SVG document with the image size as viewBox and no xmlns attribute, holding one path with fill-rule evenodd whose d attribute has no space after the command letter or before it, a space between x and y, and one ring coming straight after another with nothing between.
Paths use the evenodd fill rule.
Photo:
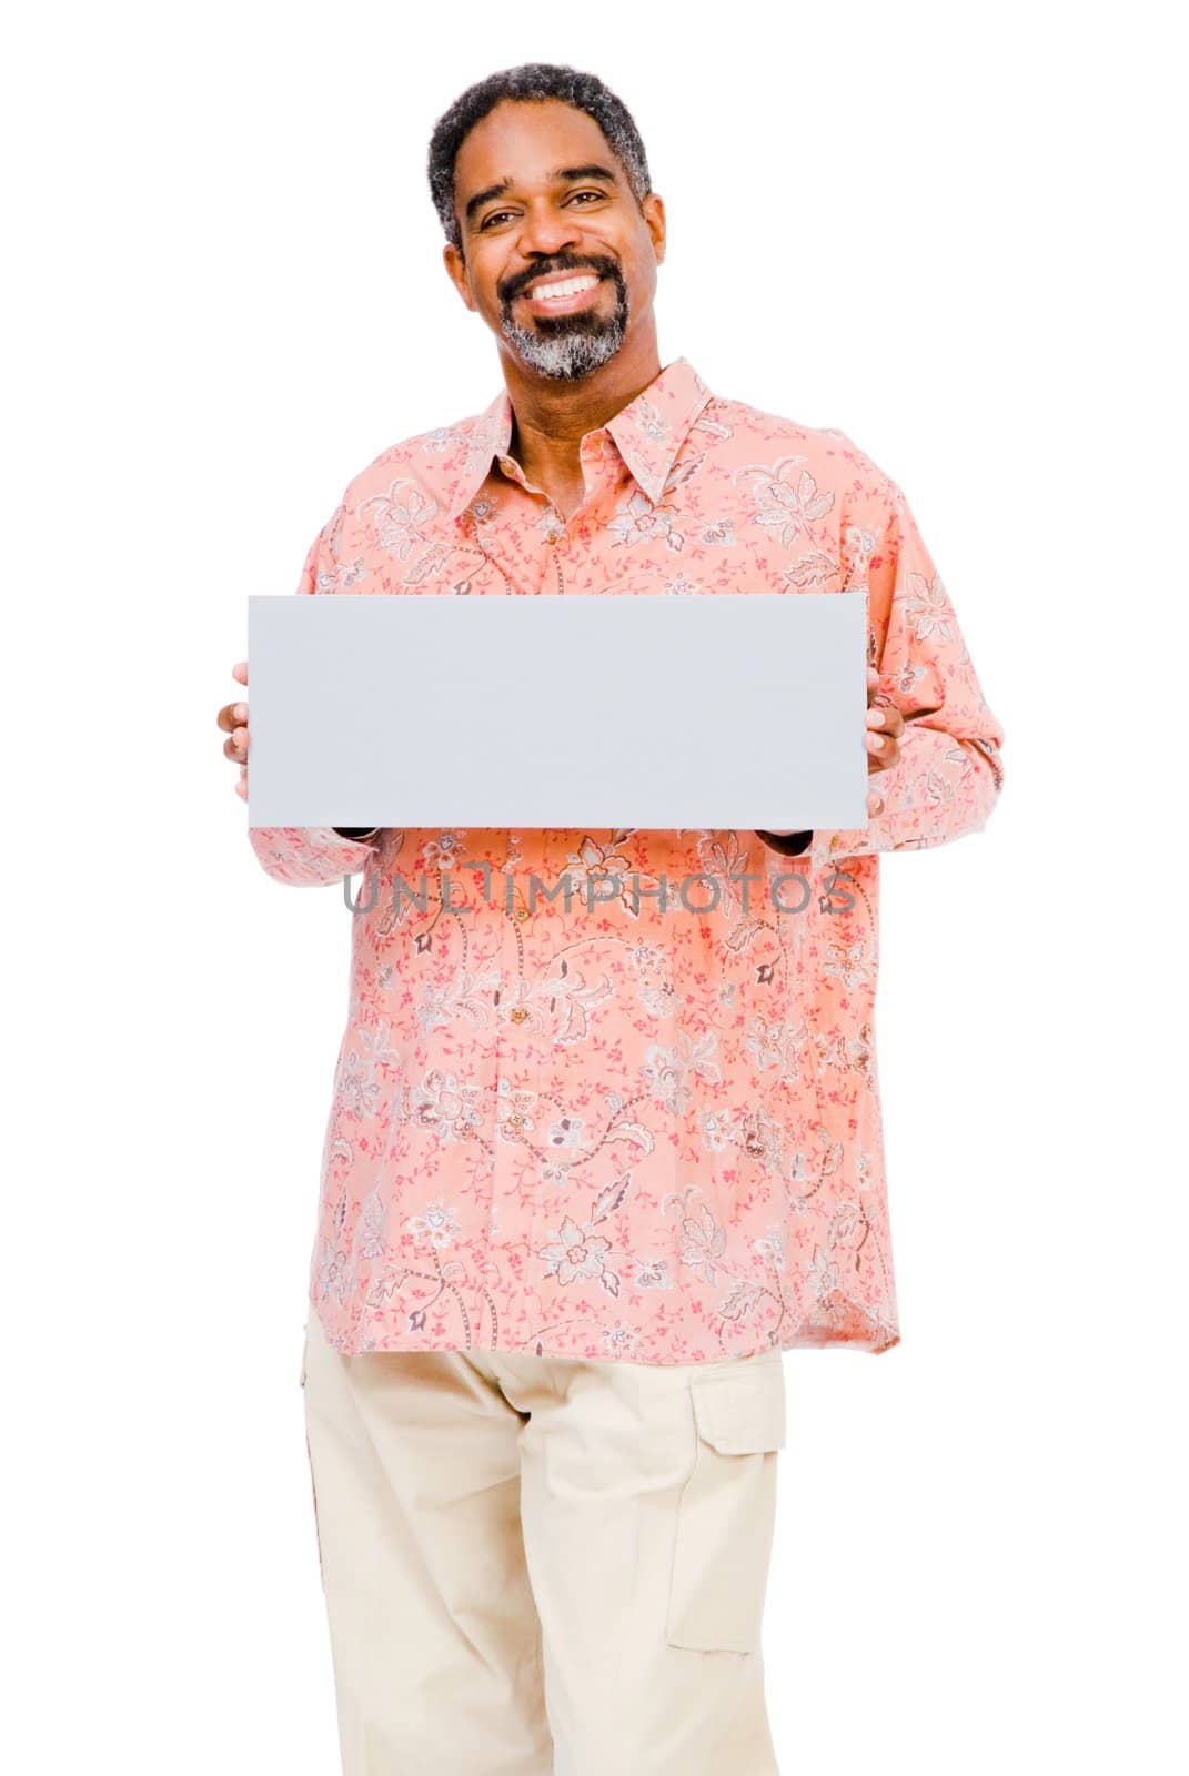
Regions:
<instances>
[{"instance_id":1,"label":"cream khaki cargo pants below the pink floral shirt","mask_svg":"<svg viewBox=\"0 0 1189 1776\"><path fill-rule=\"evenodd\" d=\"M778 1350L343 1357L306 1437L345 1776L777 1776Z\"/></svg>"}]
</instances>

